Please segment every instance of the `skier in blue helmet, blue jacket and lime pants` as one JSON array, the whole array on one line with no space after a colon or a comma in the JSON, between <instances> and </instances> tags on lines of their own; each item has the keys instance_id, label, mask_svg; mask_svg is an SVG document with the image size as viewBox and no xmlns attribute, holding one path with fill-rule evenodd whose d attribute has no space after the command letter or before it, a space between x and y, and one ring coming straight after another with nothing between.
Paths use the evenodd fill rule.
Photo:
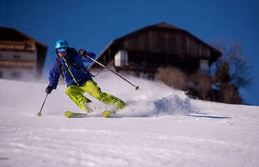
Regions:
<instances>
[{"instance_id":1,"label":"skier in blue helmet, blue jacket and lime pants","mask_svg":"<svg viewBox=\"0 0 259 167\"><path fill-rule=\"evenodd\" d=\"M49 70L49 86L45 89L47 94L52 93L58 86L60 75L65 77L68 88L65 93L70 99L79 106L80 109L89 112L93 111L93 103L83 94L86 92L95 97L100 102L114 106L115 109L123 109L127 104L118 97L103 93L99 86L93 81L92 75L84 67L83 62L92 62L90 58L95 58L91 51L69 47L65 40L58 40L55 44L56 61L52 63Z\"/></svg>"}]
</instances>

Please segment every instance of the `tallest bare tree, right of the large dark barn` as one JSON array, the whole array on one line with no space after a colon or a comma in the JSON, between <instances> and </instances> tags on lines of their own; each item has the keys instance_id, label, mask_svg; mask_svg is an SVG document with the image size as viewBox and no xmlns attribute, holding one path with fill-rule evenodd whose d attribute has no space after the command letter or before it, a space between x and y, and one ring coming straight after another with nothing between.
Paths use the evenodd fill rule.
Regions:
<instances>
[{"instance_id":1,"label":"tallest bare tree, right of the large dark barn","mask_svg":"<svg viewBox=\"0 0 259 167\"><path fill-rule=\"evenodd\" d=\"M210 42L212 47L221 51L223 56L219 58L212 67L217 71L216 86L219 88L219 101L242 104L242 98L238 92L239 88L249 88L252 84L248 58L244 58L243 50L239 42L233 42L232 38L226 44L221 42Z\"/></svg>"}]
</instances>

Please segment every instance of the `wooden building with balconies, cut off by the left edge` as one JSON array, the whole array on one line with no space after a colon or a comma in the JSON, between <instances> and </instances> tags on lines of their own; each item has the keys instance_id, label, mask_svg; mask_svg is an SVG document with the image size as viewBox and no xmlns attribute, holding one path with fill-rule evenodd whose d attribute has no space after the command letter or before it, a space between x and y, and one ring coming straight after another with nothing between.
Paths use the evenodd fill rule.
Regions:
<instances>
[{"instance_id":1,"label":"wooden building with balconies, cut off by the left edge","mask_svg":"<svg viewBox=\"0 0 259 167\"><path fill-rule=\"evenodd\" d=\"M9 27L0 27L0 78L39 79L47 45Z\"/></svg>"}]
</instances>

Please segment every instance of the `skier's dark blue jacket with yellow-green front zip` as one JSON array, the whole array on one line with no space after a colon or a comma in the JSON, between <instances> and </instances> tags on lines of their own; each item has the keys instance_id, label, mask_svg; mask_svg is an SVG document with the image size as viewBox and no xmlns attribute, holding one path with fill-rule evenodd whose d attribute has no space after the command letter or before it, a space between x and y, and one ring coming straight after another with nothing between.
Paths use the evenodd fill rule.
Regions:
<instances>
[{"instance_id":1,"label":"skier's dark blue jacket with yellow-green front zip","mask_svg":"<svg viewBox=\"0 0 259 167\"><path fill-rule=\"evenodd\" d=\"M87 53L91 58L95 58L95 54L93 52L87 51ZM82 67L81 69L72 67L68 59L70 56L72 56L72 62ZM77 54L77 51L68 49L68 54L63 57L58 57L58 60L61 62L65 82L68 86L81 86L86 81L92 79L91 74L87 71L87 68L84 67L84 62L92 62L90 58L80 56ZM49 86L56 89L60 75L61 73L59 72L57 62L54 61L49 70Z\"/></svg>"}]
</instances>

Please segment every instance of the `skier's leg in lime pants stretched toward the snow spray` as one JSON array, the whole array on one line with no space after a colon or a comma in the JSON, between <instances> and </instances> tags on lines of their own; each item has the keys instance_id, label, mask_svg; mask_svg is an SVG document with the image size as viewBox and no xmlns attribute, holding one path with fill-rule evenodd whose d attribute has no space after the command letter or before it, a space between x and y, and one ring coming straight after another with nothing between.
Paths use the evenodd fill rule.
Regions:
<instances>
[{"instance_id":1,"label":"skier's leg in lime pants stretched toward the snow spray","mask_svg":"<svg viewBox=\"0 0 259 167\"><path fill-rule=\"evenodd\" d=\"M114 106L116 109L123 109L127 105L125 102L123 102L123 100L120 100L118 97L109 95L108 93L103 93L99 86L93 80L87 81L86 85L81 88L89 93L89 95L92 95L97 100L100 100L100 102Z\"/></svg>"}]
</instances>

